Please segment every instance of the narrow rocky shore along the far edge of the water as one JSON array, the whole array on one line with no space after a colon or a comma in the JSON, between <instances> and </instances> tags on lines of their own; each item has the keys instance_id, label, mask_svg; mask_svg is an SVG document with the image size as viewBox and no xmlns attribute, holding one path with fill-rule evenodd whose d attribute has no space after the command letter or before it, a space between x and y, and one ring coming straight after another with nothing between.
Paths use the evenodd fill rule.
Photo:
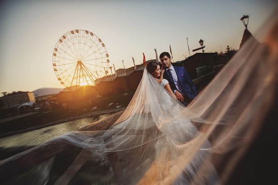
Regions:
<instances>
[{"instance_id":1,"label":"narrow rocky shore along the far edge of the water","mask_svg":"<svg viewBox=\"0 0 278 185\"><path fill-rule=\"evenodd\" d=\"M53 122L46 123L46 124L43 124L43 125L38 125L38 126L30 127L30 128L27 128L27 129L15 130L15 131L7 132L5 134L1 134L0 138L6 137L6 136L9 136L9 135L13 135L13 134L19 134L19 133L23 133L23 132L37 130L37 129L41 129L41 128L48 127L48 126L51 126L51 125L57 125L57 124L60 124L60 123L65 123L65 122L68 122L68 121L74 121L74 120L82 119L82 118L86 118L86 117L94 117L94 116L99 116L99 115L103 115L103 114L116 113L116 112L122 111L124 109L126 109L126 107L119 108L119 109L102 110L102 111L95 111L95 112L85 113L85 114L82 114L82 115L79 115L79 116L68 117L68 118L65 118L65 119L53 121Z\"/></svg>"}]
</instances>

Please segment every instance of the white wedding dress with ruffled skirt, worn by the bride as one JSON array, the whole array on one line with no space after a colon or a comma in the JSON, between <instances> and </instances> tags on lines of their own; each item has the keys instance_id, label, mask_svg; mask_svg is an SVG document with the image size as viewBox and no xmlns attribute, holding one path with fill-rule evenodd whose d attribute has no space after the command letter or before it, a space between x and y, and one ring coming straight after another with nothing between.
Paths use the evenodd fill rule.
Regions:
<instances>
[{"instance_id":1,"label":"white wedding dress with ruffled skirt, worn by the bride","mask_svg":"<svg viewBox=\"0 0 278 185\"><path fill-rule=\"evenodd\" d=\"M169 83L168 80L162 79L161 86L165 87L165 85L168 83ZM166 89L161 89L161 91L163 91L163 90L166 91ZM171 99L170 99L169 95L165 94L165 93L162 93L162 94L164 94L164 96L165 96L164 97L165 101L168 101L168 103L171 104ZM179 113L179 112L175 112L175 111L179 111L179 110L173 109L173 111L172 111L173 116L176 113ZM156 152L158 152L158 153L161 153L161 151L159 151L159 150L162 150L167 145L169 146L169 148L172 148L170 145L173 144L173 141L172 141L173 139L185 144L185 143L189 143L191 140L193 140L196 137L196 135L201 136L203 134L202 132L198 131L196 126L194 126L190 120L185 120L185 119L175 120L171 124L171 127L168 126L167 129L171 130L173 135L171 136L171 138L167 138L167 136L164 136L164 137L161 137L158 139L158 142L155 144L155 149L156 149ZM181 135L179 135L180 131L182 132ZM204 144L202 145L202 148L210 149L211 148L210 142L208 140L206 140L204 142ZM169 150L168 152L170 153L168 155L168 158L172 157L173 158L172 160L174 160L174 158L176 158L175 150L174 151ZM196 172L198 172L198 169L202 166L204 167L204 165L210 169L209 177L208 177L208 174L199 174L198 184L220 183L217 172L214 169L213 165L210 162L206 162L204 164L208 155L209 155L209 150L199 150L196 153L194 159L184 168L182 174L179 175L178 179L173 184L191 184L197 175ZM203 176L203 179L206 179L206 180L204 180L203 182L200 181L201 176Z\"/></svg>"}]
</instances>

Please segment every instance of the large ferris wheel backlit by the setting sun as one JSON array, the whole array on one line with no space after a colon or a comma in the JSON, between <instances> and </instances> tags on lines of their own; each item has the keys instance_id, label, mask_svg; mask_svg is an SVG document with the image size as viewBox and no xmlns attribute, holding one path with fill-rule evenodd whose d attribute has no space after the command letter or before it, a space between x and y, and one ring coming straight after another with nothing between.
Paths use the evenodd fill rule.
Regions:
<instances>
[{"instance_id":1,"label":"large ferris wheel backlit by the setting sun","mask_svg":"<svg viewBox=\"0 0 278 185\"><path fill-rule=\"evenodd\" d=\"M109 55L98 36L87 30L65 33L53 51L53 68L65 87L95 85L108 73Z\"/></svg>"}]
</instances>

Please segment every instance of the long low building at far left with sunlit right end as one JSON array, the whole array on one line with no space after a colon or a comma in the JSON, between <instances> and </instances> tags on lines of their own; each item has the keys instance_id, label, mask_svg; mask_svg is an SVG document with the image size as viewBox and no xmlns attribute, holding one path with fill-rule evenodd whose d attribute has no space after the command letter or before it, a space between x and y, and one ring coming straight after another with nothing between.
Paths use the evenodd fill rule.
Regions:
<instances>
[{"instance_id":1,"label":"long low building at far left with sunlit right end","mask_svg":"<svg viewBox=\"0 0 278 185\"><path fill-rule=\"evenodd\" d=\"M0 108L17 108L27 102L35 102L33 92L14 91L6 94L6 96L0 97Z\"/></svg>"}]
</instances>

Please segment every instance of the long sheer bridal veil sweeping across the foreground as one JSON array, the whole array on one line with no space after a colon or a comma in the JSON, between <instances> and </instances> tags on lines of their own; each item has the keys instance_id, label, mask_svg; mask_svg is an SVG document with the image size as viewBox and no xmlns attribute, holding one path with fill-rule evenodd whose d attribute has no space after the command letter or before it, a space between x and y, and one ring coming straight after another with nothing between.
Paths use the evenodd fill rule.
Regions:
<instances>
[{"instance_id":1,"label":"long sheer bridal veil sweeping across the foreground","mask_svg":"<svg viewBox=\"0 0 278 185\"><path fill-rule=\"evenodd\" d=\"M275 14L258 33L260 41L250 38L187 108L145 69L133 99L108 130L74 131L54 138L49 142L57 145L48 150L63 151L58 143L74 147L53 152L32 168L17 161L49 142L7 158L0 162L4 182L73 184L82 178L99 184L225 182L273 104L277 21ZM221 166L217 156L230 151L234 151L231 160ZM14 165L25 171L15 174Z\"/></svg>"}]
</instances>

